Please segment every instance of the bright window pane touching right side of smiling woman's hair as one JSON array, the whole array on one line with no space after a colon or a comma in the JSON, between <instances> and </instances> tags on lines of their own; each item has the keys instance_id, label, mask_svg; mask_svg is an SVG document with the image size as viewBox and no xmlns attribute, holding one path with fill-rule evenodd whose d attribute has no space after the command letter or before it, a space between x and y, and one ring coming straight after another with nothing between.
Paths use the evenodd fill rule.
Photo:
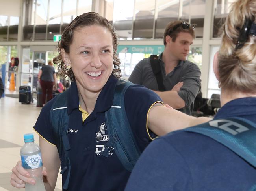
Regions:
<instances>
[{"instance_id":1,"label":"bright window pane touching right side of smiling woman's hair","mask_svg":"<svg viewBox=\"0 0 256 191\"><path fill-rule=\"evenodd\" d=\"M120 40L132 38L134 0L114 0L113 26Z\"/></svg>"}]
</instances>

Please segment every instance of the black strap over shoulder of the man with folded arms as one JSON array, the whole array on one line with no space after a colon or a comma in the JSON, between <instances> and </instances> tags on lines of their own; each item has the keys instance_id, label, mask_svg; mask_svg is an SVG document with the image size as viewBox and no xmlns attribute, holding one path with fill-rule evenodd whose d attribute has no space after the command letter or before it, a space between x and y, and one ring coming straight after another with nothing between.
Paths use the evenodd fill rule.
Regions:
<instances>
[{"instance_id":1,"label":"black strap over shoulder of the man with folded arms","mask_svg":"<svg viewBox=\"0 0 256 191\"><path fill-rule=\"evenodd\" d=\"M159 91L165 91L165 86L163 85L163 75L161 72L161 65L158 60L157 55L151 55L149 57L150 64L153 70L154 75L156 76L156 82L158 85L158 90Z\"/></svg>"}]
</instances>

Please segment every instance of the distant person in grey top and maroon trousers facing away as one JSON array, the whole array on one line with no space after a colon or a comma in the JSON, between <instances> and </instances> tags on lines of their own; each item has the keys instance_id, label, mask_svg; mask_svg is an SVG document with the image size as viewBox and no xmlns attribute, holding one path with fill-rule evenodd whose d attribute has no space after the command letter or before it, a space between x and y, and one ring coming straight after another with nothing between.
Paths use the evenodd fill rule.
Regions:
<instances>
[{"instance_id":1,"label":"distant person in grey top and maroon trousers facing away","mask_svg":"<svg viewBox=\"0 0 256 191\"><path fill-rule=\"evenodd\" d=\"M40 82L42 88L42 103L43 106L47 101L50 101L53 98L52 90L57 88L57 78L56 73L52 64L52 61L48 61L48 65L43 65L38 73L38 81Z\"/></svg>"}]
</instances>

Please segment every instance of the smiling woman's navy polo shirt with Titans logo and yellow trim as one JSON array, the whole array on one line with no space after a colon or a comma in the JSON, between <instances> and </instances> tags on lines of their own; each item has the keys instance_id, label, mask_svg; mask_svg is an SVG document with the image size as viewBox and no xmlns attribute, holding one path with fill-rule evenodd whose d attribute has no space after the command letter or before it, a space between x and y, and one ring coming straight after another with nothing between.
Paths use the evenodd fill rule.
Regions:
<instances>
[{"instance_id":1,"label":"smiling woman's navy polo shirt with Titans logo and yellow trim","mask_svg":"<svg viewBox=\"0 0 256 191\"><path fill-rule=\"evenodd\" d=\"M76 82L72 82L67 99L67 135L71 146L68 189L70 191L121 191L124 190L130 176L130 172L124 169L115 155L115 148L109 152L108 158L99 155L108 140L105 111L113 104L116 83L117 78L110 76L96 100L94 111L83 122L82 113L79 111ZM150 142L146 129L148 111L153 104L161 102L161 99L156 93L141 85L130 86L124 99L128 121L139 149L143 151ZM50 144L56 145L49 120L52 103L53 100L43 107L34 129ZM62 175L63 183L67 176L66 172Z\"/></svg>"}]
</instances>

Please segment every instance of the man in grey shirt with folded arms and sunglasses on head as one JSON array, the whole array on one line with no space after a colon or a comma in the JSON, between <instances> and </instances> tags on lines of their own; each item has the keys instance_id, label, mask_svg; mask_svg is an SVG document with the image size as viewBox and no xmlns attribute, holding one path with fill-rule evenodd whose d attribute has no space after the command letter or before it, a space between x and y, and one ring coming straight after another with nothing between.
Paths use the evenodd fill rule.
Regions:
<instances>
[{"instance_id":1,"label":"man in grey shirt with folded arms and sunglasses on head","mask_svg":"<svg viewBox=\"0 0 256 191\"><path fill-rule=\"evenodd\" d=\"M150 59L141 60L134 68L129 81L155 91L165 104L188 115L201 88L198 66L186 60L193 39L195 26L182 21L170 22L164 32L165 49L158 56L166 91L159 91Z\"/></svg>"}]
</instances>

